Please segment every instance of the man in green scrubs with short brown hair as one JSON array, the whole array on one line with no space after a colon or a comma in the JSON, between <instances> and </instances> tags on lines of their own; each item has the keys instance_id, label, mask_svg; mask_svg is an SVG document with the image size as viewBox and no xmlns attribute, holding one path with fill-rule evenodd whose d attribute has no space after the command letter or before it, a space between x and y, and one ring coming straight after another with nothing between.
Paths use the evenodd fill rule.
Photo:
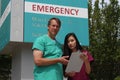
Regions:
<instances>
[{"instance_id":1,"label":"man in green scrubs with short brown hair","mask_svg":"<svg viewBox=\"0 0 120 80\"><path fill-rule=\"evenodd\" d=\"M48 33L33 44L34 80L63 80L62 64L68 63L68 56L62 56L62 45L55 39L60 27L61 21L51 18Z\"/></svg>"}]
</instances>

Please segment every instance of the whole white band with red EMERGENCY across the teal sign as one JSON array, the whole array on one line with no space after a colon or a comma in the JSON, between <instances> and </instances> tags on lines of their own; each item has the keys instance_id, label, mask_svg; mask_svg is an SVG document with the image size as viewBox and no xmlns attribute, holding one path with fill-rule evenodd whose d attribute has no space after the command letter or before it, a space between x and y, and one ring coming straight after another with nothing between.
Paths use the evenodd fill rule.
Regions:
<instances>
[{"instance_id":1,"label":"whole white band with red EMERGENCY across the teal sign","mask_svg":"<svg viewBox=\"0 0 120 80\"><path fill-rule=\"evenodd\" d=\"M25 12L88 18L88 9L86 8L59 6L59 5L33 3L33 2L25 2Z\"/></svg>"}]
</instances>

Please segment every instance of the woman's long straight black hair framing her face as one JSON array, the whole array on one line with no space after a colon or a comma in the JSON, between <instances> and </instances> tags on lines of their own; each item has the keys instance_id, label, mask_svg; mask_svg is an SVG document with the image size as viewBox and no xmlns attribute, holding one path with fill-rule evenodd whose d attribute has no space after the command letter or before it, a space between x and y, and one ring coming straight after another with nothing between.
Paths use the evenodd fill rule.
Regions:
<instances>
[{"instance_id":1,"label":"woman's long straight black hair framing her face","mask_svg":"<svg viewBox=\"0 0 120 80\"><path fill-rule=\"evenodd\" d=\"M73 36L76 40L76 48L77 50L79 49L80 51L83 50L82 46L80 45L75 33L68 33L66 36L65 36L65 39L64 39L64 47L63 47L63 55L67 56L67 55L71 55L72 51L70 50L70 48L68 47L68 38L70 36Z\"/></svg>"}]
</instances>

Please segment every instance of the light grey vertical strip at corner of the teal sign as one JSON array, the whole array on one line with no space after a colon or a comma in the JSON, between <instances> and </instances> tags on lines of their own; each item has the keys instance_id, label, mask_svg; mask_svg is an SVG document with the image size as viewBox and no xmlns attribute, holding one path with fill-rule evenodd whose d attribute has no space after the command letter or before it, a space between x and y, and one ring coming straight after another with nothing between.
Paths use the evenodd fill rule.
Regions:
<instances>
[{"instance_id":1,"label":"light grey vertical strip at corner of the teal sign","mask_svg":"<svg viewBox=\"0 0 120 80\"><path fill-rule=\"evenodd\" d=\"M24 0L11 0L10 41L23 42Z\"/></svg>"}]
</instances>

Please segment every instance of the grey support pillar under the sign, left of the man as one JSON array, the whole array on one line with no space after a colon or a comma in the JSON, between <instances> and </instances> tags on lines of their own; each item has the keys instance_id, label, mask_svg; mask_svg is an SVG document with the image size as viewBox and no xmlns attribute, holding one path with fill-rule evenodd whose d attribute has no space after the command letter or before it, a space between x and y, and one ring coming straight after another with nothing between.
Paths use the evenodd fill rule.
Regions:
<instances>
[{"instance_id":1,"label":"grey support pillar under the sign, left of the man","mask_svg":"<svg viewBox=\"0 0 120 80\"><path fill-rule=\"evenodd\" d=\"M12 80L33 80L32 44L18 44L12 58Z\"/></svg>"}]
</instances>

